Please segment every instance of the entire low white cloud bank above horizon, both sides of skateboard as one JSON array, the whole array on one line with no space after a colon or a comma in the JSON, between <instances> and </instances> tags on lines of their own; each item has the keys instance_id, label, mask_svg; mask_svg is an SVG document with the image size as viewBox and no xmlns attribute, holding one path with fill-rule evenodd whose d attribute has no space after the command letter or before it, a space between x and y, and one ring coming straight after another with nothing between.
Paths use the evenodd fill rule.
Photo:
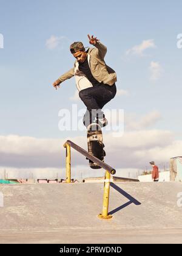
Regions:
<instances>
[{"instance_id":1,"label":"entire low white cloud bank above horizon, both sides of skateboard","mask_svg":"<svg viewBox=\"0 0 182 256\"><path fill-rule=\"evenodd\" d=\"M104 131L103 131L104 133ZM74 143L87 149L86 132L82 137L69 138ZM1 166L16 169L33 168L47 170L65 168L64 139L41 139L20 137L17 135L0 137ZM123 137L112 137L104 133L106 149L105 162L113 168L142 168L151 160L169 162L170 157L181 155L182 141L175 140L168 130L139 130L124 132ZM72 167L87 166L88 161L72 149ZM84 176L86 177L86 176Z\"/></svg>"}]
</instances>

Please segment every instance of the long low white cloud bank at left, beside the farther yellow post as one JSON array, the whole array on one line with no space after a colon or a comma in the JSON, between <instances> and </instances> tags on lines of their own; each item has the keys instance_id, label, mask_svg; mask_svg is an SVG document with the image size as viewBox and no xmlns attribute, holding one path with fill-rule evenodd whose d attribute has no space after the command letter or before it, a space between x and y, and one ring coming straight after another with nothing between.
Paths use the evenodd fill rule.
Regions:
<instances>
[{"instance_id":1,"label":"long low white cloud bank at left, beside the farther yellow post","mask_svg":"<svg viewBox=\"0 0 182 256\"><path fill-rule=\"evenodd\" d=\"M64 139L44 139L8 135L0 137L0 165L17 168L58 168L65 163ZM83 137L75 137L75 143L84 145ZM75 152L72 152L74 159ZM80 160L81 156L77 156ZM81 160L80 160L81 161ZM75 161L76 162L76 161ZM74 162L74 163L75 163Z\"/></svg>"}]
</instances>

